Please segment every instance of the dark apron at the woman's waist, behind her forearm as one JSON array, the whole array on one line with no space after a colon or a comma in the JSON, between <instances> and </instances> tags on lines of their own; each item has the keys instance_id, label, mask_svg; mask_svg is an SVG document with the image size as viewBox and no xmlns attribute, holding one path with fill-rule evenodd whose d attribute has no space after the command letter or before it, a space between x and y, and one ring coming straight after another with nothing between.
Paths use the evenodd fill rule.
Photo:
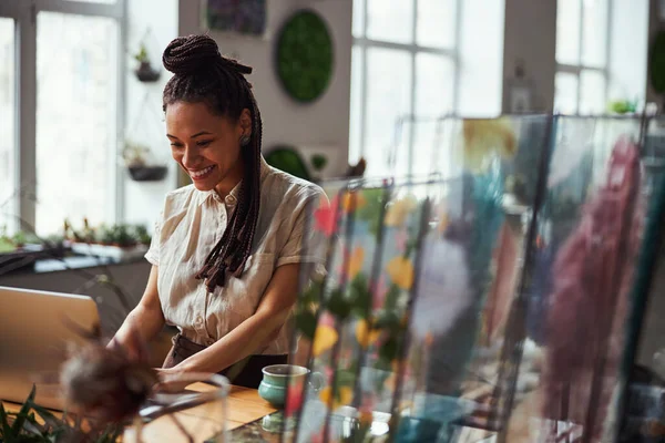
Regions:
<instances>
[{"instance_id":1,"label":"dark apron at the woman's waist, behind her forearm","mask_svg":"<svg viewBox=\"0 0 665 443\"><path fill-rule=\"evenodd\" d=\"M162 368L173 368L183 360L203 351L206 347L197 344L181 336L175 334L172 339L173 347ZM258 389L263 380L262 369L270 364L285 364L288 362L288 356L250 356L237 363L226 368L219 374L226 377L231 384L238 387Z\"/></svg>"}]
</instances>

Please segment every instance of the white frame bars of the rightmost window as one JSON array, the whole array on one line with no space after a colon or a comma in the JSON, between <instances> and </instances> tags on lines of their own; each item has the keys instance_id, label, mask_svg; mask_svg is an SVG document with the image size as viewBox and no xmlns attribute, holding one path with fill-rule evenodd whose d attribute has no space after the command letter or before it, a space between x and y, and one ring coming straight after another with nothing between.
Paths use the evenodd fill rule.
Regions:
<instances>
[{"instance_id":1,"label":"white frame bars of the rightmost window","mask_svg":"<svg viewBox=\"0 0 665 443\"><path fill-rule=\"evenodd\" d=\"M566 73L572 74L577 78L577 92L576 92L576 103L575 103L575 112L573 114L580 114L580 104L582 100L582 73L583 72L596 72L605 79L605 91L604 91L604 100L607 102L610 96L610 58L612 55L612 2L613 0L607 0L607 23L606 23L606 35L605 35L605 63L603 66L589 66L582 64L582 51L584 44L584 0L576 0L580 8L580 29L579 29L579 44L577 44L577 60L580 64L570 64L570 63L560 63L556 61L556 73ZM556 92L556 90L554 90ZM556 97L554 97L554 103L556 103ZM554 110L559 112L559 110Z\"/></svg>"}]
</instances>

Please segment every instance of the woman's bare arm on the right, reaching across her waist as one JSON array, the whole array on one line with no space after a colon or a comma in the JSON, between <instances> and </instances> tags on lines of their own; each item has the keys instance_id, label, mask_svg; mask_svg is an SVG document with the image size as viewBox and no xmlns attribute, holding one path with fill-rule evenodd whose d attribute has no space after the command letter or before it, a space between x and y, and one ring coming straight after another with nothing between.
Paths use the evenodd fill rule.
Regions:
<instances>
[{"instance_id":1,"label":"woman's bare arm on the right, reaching across her waist","mask_svg":"<svg viewBox=\"0 0 665 443\"><path fill-rule=\"evenodd\" d=\"M266 344L288 319L298 298L297 264L279 266L256 310L213 346L163 373L219 372Z\"/></svg>"}]
</instances>

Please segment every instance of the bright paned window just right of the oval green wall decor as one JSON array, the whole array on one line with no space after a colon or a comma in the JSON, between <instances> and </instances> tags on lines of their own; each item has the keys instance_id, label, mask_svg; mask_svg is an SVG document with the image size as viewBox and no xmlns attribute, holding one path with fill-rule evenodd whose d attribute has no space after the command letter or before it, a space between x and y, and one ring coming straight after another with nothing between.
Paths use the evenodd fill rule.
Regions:
<instances>
[{"instance_id":1,"label":"bright paned window just right of the oval green wall decor","mask_svg":"<svg viewBox=\"0 0 665 443\"><path fill-rule=\"evenodd\" d=\"M349 159L365 157L368 176L430 172L416 146L456 109L458 7L354 1Z\"/></svg>"}]
</instances>

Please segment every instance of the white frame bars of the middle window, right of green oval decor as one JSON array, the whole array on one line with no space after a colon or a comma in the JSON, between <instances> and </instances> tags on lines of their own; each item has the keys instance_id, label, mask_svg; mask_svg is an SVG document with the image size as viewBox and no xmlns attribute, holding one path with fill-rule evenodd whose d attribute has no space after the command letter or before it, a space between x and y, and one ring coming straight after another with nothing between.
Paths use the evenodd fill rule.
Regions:
<instances>
[{"instance_id":1,"label":"white frame bars of the middle window, right of green oval decor","mask_svg":"<svg viewBox=\"0 0 665 443\"><path fill-rule=\"evenodd\" d=\"M453 114L458 110L459 103L459 84L460 84L460 53L459 53L459 43L460 43L460 22L461 22L461 10L462 10L462 0L456 0L456 29L454 29L454 43L452 48L441 49L441 48L432 48L424 47L417 43L418 37L418 2L419 0L408 0L411 1L413 11L412 11L412 31L411 31L411 43L395 43L382 40L375 40L367 38L367 29L368 29L368 1L362 1L362 34L361 37L352 35L352 49L358 48L361 51L361 73L360 73L360 82L361 82L361 92L362 95L360 97L360 131L359 131L359 146L360 151L357 154L358 158L365 156L366 146L367 146L367 50L370 48L381 48L389 49L396 51L408 52L411 58L411 96L409 103L409 111L401 116L402 120L413 120L416 116L416 55L418 53L430 53L440 56L447 56L451 60L453 64L453 79L452 79L452 110L451 114ZM352 27L351 27L352 28ZM351 49L351 51L352 51ZM352 76L351 76L352 79ZM351 89L354 84L351 83ZM352 105L352 102L351 102ZM352 112L351 112L352 114ZM433 116L433 119L438 119L441 116ZM351 134L349 133L349 136ZM415 131L409 132L409 140L407 142L407 147L409 150L408 153L408 171L409 174L413 171L413 142L415 142ZM351 145L349 140L349 146ZM349 153L350 154L350 153ZM349 155L350 157L350 155Z\"/></svg>"}]
</instances>

